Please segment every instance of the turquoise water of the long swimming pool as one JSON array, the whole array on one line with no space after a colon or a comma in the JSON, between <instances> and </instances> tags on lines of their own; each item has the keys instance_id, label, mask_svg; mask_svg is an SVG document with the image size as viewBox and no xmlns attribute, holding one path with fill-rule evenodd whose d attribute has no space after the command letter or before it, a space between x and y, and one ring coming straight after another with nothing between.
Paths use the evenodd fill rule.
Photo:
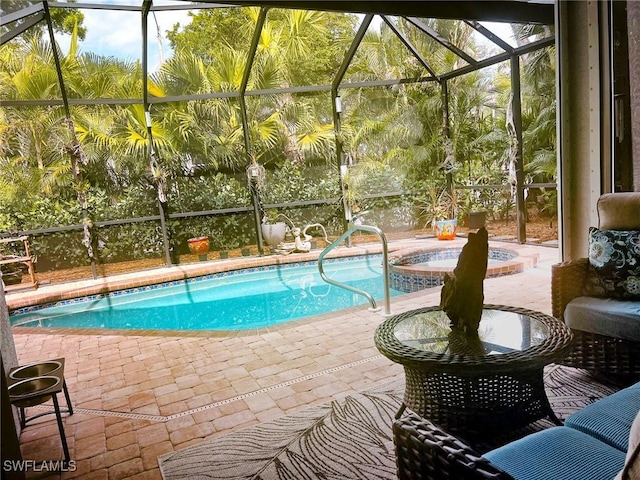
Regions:
<instances>
[{"instance_id":1,"label":"turquoise water of the long swimming pool","mask_svg":"<svg viewBox=\"0 0 640 480\"><path fill-rule=\"evenodd\" d=\"M384 298L381 256L326 261L328 277ZM392 295L400 294L391 291ZM325 283L315 262L213 274L23 309L25 327L153 330L247 330L341 310L368 301Z\"/></svg>"}]
</instances>

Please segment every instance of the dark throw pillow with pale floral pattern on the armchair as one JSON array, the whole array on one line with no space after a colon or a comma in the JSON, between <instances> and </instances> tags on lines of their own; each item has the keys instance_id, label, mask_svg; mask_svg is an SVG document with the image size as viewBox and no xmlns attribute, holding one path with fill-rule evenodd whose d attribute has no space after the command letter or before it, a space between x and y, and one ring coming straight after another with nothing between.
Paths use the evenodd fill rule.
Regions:
<instances>
[{"instance_id":1,"label":"dark throw pillow with pale floral pattern on the armchair","mask_svg":"<svg viewBox=\"0 0 640 480\"><path fill-rule=\"evenodd\" d=\"M589 228L586 295L640 299L640 231Z\"/></svg>"}]
</instances>

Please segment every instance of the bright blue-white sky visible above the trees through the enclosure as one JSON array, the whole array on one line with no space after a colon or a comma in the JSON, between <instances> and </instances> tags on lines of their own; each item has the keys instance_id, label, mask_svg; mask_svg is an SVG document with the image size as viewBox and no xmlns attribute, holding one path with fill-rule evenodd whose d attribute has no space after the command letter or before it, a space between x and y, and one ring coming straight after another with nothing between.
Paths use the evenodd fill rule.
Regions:
<instances>
[{"instance_id":1,"label":"bright blue-white sky visible above the trees through the enclosure","mask_svg":"<svg viewBox=\"0 0 640 480\"><path fill-rule=\"evenodd\" d=\"M91 1L91 0L89 0ZM92 3L100 4L124 4L141 5L141 0L100 0ZM154 5L180 4L184 2L171 2L170 0L156 0ZM114 56L119 59L136 61L142 59L142 25L140 12L116 11L116 10L93 10L82 9L85 16L84 25L87 35L80 43L82 53L94 52L104 56ZM198 10L194 10L197 13ZM171 30L176 23L182 26L191 21L188 10L171 10L152 12L149 14L148 25L148 70L154 72L161 64L162 58L165 60L172 54L171 47L166 39L166 31ZM375 17L373 27L379 27L380 19ZM510 28L507 24L483 22L487 28L504 39L510 37ZM158 36L158 33L160 36ZM484 37L478 34L480 41ZM66 52L69 48L70 38L58 35L57 41L62 50Z\"/></svg>"}]
</instances>

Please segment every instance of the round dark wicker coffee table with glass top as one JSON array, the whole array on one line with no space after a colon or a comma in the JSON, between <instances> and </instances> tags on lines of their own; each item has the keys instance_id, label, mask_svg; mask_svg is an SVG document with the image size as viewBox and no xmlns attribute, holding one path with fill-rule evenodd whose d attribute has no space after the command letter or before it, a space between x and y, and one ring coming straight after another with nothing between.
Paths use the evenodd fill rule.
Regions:
<instances>
[{"instance_id":1,"label":"round dark wicker coffee table with glass top","mask_svg":"<svg viewBox=\"0 0 640 480\"><path fill-rule=\"evenodd\" d=\"M485 305L479 339L452 332L439 307L394 315L376 330L378 350L404 366L405 408L464 438L500 434L556 417L543 369L562 359L572 335L543 313Z\"/></svg>"}]
</instances>

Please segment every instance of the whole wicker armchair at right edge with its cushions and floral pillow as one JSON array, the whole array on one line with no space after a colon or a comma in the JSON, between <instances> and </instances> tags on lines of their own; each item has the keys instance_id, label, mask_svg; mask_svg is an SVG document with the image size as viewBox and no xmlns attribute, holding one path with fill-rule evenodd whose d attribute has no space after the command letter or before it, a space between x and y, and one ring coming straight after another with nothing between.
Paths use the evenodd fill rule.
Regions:
<instances>
[{"instance_id":1,"label":"whole wicker armchair at right edge with its cushions and floral pillow","mask_svg":"<svg viewBox=\"0 0 640 480\"><path fill-rule=\"evenodd\" d=\"M589 232L589 258L560 263L551 270L553 316L564 321L575 338L572 353L562 363L636 381L640 379L640 192L602 195L597 208L598 228ZM609 243L600 242L602 238ZM598 257L603 245L610 249L624 242L629 246L626 252L617 246L604 252L609 263ZM619 275L620 265L614 262L624 255L625 273L631 272L635 281L628 287L624 282L629 277L608 277Z\"/></svg>"}]
</instances>

